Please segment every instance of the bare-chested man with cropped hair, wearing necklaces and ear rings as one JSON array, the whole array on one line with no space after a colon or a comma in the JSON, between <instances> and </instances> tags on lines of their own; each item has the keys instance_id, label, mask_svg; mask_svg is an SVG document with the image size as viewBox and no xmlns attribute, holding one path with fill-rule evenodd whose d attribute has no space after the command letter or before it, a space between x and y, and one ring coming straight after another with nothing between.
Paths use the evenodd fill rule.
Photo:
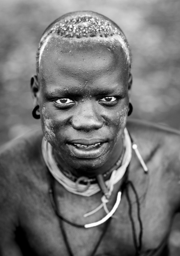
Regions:
<instances>
[{"instance_id":1,"label":"bare-chested man with cropped hair, wearing necklaces and ear rings","mask_svg":"<svg viewBox=\"0 0 180 256\"><path fill-rule=\"evenodd\" d=\"M123 32L100 14L45 30L31 80L43 132L0 157L1 255L168 255L179 133L126 121L130 66Z\"/></svg>"}]
</instances>

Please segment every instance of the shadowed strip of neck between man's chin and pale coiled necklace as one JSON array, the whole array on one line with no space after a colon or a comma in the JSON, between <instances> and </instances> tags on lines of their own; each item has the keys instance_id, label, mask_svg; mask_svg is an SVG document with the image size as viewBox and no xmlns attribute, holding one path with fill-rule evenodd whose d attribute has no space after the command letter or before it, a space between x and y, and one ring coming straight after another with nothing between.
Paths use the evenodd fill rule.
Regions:
<instances>
[{"instance_id":1,"label":"shadowed strip of neck between man's chin and pale coiled necklace","mask_svg":"<svg viewBox=\"0 0 180 256\"><path fill-rule=\"evenodd\" d=\"M124 136L124 135L123 135ZM60 169L63 169L64 171L71 172L75 177L81 177L86 176L89 178L96 177L98 174L105 174L107 173L113 166L116 164L116 162L119 160L120 156L123 153L123 139L122 137L120 140L116 143L115 147L113 148L110 156L106 160L106 162L98 169L95 169L91 171L90 173L88 171L84 171L81 169L76 169L71 166L69 166L58 154L57 151L54 150L54 157L58 165L60 166ZM115 169L115 166L114 166ZM113 169L111 170L113 171ZM107 177L108 178L108 175Z\"/></svg>"}]
</instances>

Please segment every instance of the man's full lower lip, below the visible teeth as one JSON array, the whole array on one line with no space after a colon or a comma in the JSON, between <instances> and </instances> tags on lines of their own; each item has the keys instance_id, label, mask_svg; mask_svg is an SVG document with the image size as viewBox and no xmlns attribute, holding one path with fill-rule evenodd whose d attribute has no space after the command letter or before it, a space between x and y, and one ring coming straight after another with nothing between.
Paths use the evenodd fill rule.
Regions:
<instances>
[{"instance_id":1,"label":"man's full lower lip, below the visible teeth","mask_svg":"<svg viewBox=\"0 0 180 256\"><path fill-rule=\"evenodd\" d=\"M81 148L74 146L73 144L67 144L72 154L78 158L96 158L99 157L106 148L107 143L101 143L100 145L92 148Z\"/></svg>"}]
</instances>

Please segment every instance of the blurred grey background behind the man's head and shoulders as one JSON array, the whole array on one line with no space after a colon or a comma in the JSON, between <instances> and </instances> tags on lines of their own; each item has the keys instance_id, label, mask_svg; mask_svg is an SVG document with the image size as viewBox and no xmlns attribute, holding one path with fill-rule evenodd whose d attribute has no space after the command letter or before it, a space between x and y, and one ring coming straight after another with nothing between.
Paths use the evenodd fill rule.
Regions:
<instances>
[{"instance_id":1,"label":"blurred grey background behind the man's head and shoulders","mask_svg":"<svg viewBox=\"0 0 180 256\"><path fill-rule=\"evenodd\" d=\"M92 10L115 21L133 53L132 117L180 129L179 0L1 0L0 145L40 126L29 81L41 34L66 12ZM180 219L170 235L180 255Z\"/></svg>"}]
</instances>

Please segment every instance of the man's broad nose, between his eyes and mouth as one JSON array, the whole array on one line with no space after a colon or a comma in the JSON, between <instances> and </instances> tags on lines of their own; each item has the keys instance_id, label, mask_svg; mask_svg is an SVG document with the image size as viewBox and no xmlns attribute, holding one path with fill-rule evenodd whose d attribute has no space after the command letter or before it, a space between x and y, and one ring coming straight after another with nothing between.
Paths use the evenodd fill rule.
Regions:
<instances>
[{"instance_id":1,"label":"man's broad nose, between his eyes and mouth","mask_svg":"<svg viewBox=\"0 0 180 256\"><path fill-rule=\"evenodd\" d=\"M92 106L93 103L81 104L78 111L72 117L71 123L75 130L86 132L97 130L103 126L103 118L98 113L98 108Z\"/></svg>"}]
</instances>

